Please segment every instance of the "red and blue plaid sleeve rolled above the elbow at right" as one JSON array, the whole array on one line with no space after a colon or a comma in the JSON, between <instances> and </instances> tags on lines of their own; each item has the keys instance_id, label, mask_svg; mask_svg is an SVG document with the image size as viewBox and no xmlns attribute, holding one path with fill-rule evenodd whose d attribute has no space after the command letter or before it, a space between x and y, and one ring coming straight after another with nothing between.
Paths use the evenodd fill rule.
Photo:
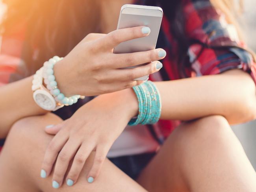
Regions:
<instances>
[{"instance_id":1,"label":"red and blue plaid sleeve rolled above the elbow at right","mask_svg":"<svg viewBox=\"0 0 256 192\"><path fill-rule=\"evenodd\" d=\"M188 55L197 76L230 69L249 72L255 81L253 55L244 49L233 25L227 24L210 0L185 0L185 32L191 42Z\"/></svg>"}]
</instances>

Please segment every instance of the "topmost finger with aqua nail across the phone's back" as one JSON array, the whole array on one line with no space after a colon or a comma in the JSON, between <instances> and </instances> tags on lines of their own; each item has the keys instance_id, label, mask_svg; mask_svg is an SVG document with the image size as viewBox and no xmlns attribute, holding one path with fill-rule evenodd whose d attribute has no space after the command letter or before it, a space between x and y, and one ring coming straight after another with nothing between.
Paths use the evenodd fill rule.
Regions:
<instances>
[{"instance_id":1,"label":"topmost finger with aqua nail across the phone's back","mask_svg":"<svg viewBox=\"0 0 256 192\"><path fill-rule=\"evenodd\" d=\"M113 49L115 46L124 41L146 37L150 33L150 28L146 26L124 28L112 31L105 37L98 39L101 47L104 49Z\"/></svg>"}]
</instances>

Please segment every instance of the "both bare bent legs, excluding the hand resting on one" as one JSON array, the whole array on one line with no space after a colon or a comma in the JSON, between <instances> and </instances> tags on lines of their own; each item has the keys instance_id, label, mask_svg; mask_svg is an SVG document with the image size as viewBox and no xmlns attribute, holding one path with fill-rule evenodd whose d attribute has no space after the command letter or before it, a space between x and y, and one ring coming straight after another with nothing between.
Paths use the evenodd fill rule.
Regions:
<instances>
[{"instance_id":1,"label":"both bare bent legs, excluding the hand resting on one","mask_svg":"<svg viewBox=\"0 0 256 192\"><path fill-rule=\"evenodd\" d=\"M0 153L1 191L56 191L51 186L52 174L42 179L39 172L45 150L53 138L45 134L44 127L61 121L54 114L46 114L23 118L13 125ZM106 159L98 178L88 183L87 174L94 155L95 152L89 155L75 185L64 184L57 190L253 192L256 189L256 174L222 116L209 116L180 125L136 182Z\"/></svg>"}]
</instances>

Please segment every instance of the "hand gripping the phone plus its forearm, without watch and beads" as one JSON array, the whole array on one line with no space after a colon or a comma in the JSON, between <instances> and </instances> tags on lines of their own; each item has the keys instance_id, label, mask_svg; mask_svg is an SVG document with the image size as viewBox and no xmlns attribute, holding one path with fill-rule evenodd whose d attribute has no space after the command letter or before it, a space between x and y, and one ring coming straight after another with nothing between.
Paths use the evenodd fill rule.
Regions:
<instances>
[{"instance_id":1,"label":"hand gripping the phone plus its forearm, without watch and beads","mask_svg":"<svg viewBox=\"0 0 256 192\"><path fill-rule=\"evenodd\" d=\"M54 66L54 74L61 92L65 95L84 96L115 92L138 85L141 82L133 79L160 70L161 67L157 67L159 63L157 60L164 58L158 56L158 52L163 51L162 49L130 54L113 54L112 52L117 44L145 37L150 33L150 30L148 33L143 33L142 28L121 29L107 35L87 35ZM148 65L120 69L141 63L148 63ZM1 70L0 68L0 72L5 72ZM11 125L20 118L47 113L33 101L32 78L31 76L0 87L0 138L6 137Z\"/></svg>"}]
</instances>

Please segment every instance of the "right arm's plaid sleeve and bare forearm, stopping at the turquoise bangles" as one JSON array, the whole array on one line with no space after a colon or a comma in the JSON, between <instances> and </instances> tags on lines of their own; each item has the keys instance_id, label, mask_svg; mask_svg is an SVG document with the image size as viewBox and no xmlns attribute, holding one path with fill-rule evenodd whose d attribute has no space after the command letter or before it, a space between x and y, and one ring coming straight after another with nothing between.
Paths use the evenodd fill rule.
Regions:
<instances>
[{"instance_id":1,"label":"right arm's plaid sleeve and bare forearm, stopping at the turquoise bangles","mask_svg":"<svg viewBox=\"0 0 256 192\"><path fill-rule=\"evenodd\" d=\"M220 114L230 124L254 119L255 85L245 73L255 77L251 55L238 48L241 42L231 38L224 19L209 0L183 3L184 34L189 42L197 40L207 46L192 43L188 47L191 68L200 77L156 83L164 103L161 118L191 120ZM236 31L232 33L234 36ZM245 72L233 70L238 68Z\"/></svg>"}]
</instances>

